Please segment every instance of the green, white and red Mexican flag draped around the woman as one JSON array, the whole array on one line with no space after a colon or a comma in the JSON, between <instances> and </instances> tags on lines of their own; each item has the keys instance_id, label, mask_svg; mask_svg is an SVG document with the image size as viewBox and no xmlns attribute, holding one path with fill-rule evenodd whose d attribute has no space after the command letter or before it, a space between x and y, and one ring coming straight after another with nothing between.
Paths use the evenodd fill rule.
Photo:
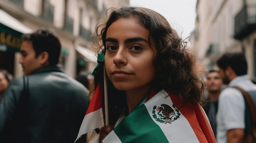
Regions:
<instances>
[{"instance_id":1,"label":"green, white and red Mexican flag draped around the woman","mask_svg":"<svg viewBox=\"0 0 256 143\"><path fill-rule=\"evenodd\" d=\"M101 88L97 87L77 139L104 125ZM99 94L100 93L100 94ZM97 95L98 94L98 95ZM165 90L150 92L147 99L106 136L103 143L216 143L202 107L183 105L180 97Z\"/></svg>"}]
</instances>

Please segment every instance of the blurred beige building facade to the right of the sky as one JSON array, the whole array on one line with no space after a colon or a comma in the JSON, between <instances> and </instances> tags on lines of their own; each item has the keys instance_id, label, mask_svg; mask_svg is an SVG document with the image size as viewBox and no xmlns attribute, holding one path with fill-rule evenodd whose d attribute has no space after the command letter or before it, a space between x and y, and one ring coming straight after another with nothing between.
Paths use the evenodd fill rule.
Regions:
<instances>
[{"instance_id":1,"label":"blurred beige building facade to the right of the sky","mask_svg":"<svg viewBox=\"0 0 256 143\"><path fill-rule=\"evenodd\" d=\"M208 68L226 52L240 51L256 80L256 0L198 0L191 42Z\"/></svg>"}]
</instances>

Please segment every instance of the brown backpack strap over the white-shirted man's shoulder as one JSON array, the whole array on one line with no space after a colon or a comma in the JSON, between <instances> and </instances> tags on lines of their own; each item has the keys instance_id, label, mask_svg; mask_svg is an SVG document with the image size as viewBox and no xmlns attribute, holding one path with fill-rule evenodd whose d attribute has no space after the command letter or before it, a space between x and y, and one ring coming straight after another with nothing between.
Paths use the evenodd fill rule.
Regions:
<instances>
[{"instance_id":1,"label":"brown backpack strap over the white-shirted man's shoulder","mask_svg":"<svg viewBox=\"0 0 256 143\"><path fill-rule=\"evenodd\" d=\"M251 113L251 117L252 117L252 132L254 134L254 138L256 139L256 109L255 109L253 99L248 94L248 92L246 92L242 88L239 88L238 86L233 86L233 88L236 88L242 92L242 94L246 100L246 103L248 104L248 106L250 108L250 113Z\"/></svg>"}]
</instances>

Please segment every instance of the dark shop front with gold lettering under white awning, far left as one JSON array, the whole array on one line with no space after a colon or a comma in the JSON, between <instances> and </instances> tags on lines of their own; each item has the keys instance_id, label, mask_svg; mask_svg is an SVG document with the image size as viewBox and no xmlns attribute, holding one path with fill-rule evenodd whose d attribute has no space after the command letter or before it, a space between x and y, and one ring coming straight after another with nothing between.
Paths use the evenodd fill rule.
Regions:
<instances>
[{"instance_id":1,"label":"dark shop front with gold lettering under white awning, far left","mask_svg":"<svg viewBox=\"0 0 256 143\"><path fill-rule=\"evenodd\" d=\"M31 29L0 9L0 69L6 69L14 76L17 76L17 70L18 73L21 73L17 63L21 35L31 31Z\"/></svg>"}]
</instances>

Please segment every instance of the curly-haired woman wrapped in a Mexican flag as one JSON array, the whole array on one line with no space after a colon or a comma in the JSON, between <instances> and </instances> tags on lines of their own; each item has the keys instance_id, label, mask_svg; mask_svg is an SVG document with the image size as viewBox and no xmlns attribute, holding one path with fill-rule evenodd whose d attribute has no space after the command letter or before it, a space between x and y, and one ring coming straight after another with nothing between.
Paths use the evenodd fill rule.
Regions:
<instances>
[{"instance_id":1,"label":"curly-haired woman wrapped in a Mexican flag","mask_svg":"<svg viewBox=\"0 0 256 143\"><path fill-rule=\"evenodd\" d=\"M96 33L93 40L103 51L77 142L96 128L100 130L87 135L88 141L98 137L103 143L216 142L198 104L204 68L162 15L141 7L113 9ZM103 86L108 91L106 107L107 102L101 104Z\"/></svg>"}]
</instances>

